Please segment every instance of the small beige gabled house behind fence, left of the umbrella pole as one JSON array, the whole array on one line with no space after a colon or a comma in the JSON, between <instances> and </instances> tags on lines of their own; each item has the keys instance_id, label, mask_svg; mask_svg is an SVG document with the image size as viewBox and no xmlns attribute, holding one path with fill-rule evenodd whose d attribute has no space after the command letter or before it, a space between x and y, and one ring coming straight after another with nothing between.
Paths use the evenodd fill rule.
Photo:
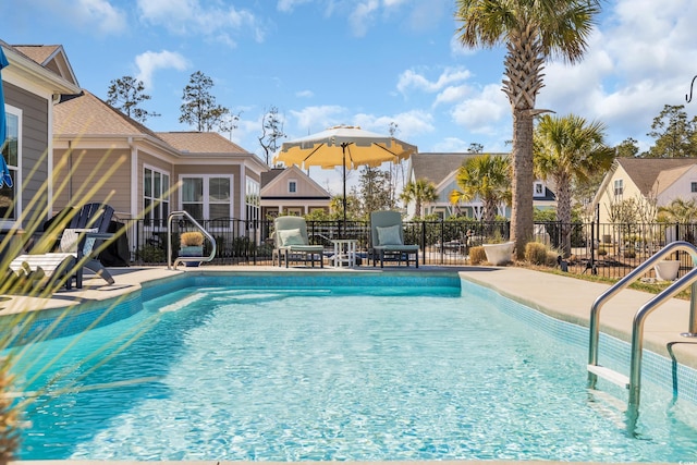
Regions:
<instances>
[{"instance_id":1,"label":"small beige gabled house behind fence, left of the umbrella pole","mask_svg":"<svg viewBox=\"0 0 697 465\"><path fill-rule=\"evenodd\" d=\"M296 166L261 173L261 217L329 211L331 195Z\"/></svg>"}]
</instances>

